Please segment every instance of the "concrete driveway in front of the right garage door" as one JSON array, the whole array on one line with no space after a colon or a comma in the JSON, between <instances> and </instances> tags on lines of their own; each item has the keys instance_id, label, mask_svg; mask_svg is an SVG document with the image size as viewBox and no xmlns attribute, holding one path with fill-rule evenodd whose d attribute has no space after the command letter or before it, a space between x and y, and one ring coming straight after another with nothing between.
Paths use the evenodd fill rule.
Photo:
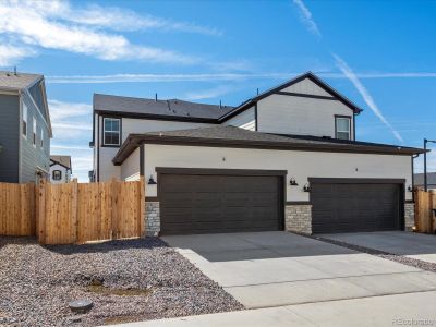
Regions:
<instances>
[{"instance_id":1,"label":"concrete driveway in front of the right garage door","mask_svg":"<svg viewBox=\"0 0 436 327\"><path fill-rule=\"evenodd\" d=\"M436 235L433 234L387 231L320 237L436 264Z\"/></svg>"}]
</instances>

